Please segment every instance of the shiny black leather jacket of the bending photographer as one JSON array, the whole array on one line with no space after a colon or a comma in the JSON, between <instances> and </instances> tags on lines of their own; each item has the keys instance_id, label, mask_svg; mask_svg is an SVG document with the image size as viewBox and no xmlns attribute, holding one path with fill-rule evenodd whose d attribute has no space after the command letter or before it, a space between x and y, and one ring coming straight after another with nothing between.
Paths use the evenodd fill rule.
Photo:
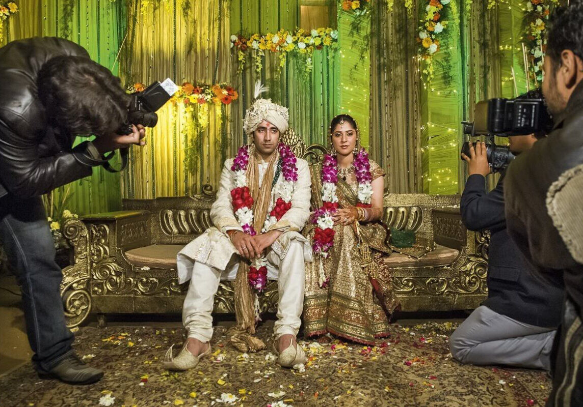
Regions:
<instances>
[{"instance_id":1,"label":"shiny black leather jacket of the bending photographer","mask_svg":"<svg viewBox=\"0 0 583 407\"><path fill-rule=\"evenodd\" d=\"M29 38L0 48L0 197L27 198L91 175L72 149L75 137L47 124L37 96L37 76L54 56L89 58L79 45L62 38Z\"/></svg>"}]
</instances>

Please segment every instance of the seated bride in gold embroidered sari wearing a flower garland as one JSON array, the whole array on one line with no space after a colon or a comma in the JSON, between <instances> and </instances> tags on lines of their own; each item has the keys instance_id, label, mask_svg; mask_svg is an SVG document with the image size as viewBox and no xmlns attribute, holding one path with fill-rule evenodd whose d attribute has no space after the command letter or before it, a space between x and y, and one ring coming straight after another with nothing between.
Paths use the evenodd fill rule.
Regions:
<instances>
[{"instance_id":1,"label":"seated bride in gold embroidered sari wearing a flower garland","mask_svg":"<svg viewBox=\"0 0 583 407\"><path fill-rule=\"evenodd\" d=\"M398 305L380 259L392 252L380 222L385 172L360 147L351 116L336 116L329 137L331 154L310 168L314 213L304 233L314 261L306 263L304 333L374 344L389 334Z\"/></svg>"}]
</instances>

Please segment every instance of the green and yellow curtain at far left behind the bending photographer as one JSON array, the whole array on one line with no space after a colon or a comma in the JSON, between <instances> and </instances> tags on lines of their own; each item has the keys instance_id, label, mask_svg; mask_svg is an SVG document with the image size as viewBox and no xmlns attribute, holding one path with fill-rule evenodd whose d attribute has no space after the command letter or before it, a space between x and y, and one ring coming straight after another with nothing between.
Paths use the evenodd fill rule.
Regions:
<instances>
[{"instance_id":1,"label":"green and yellow curtain at far left behind the bending photographer","mask_svg":"<svg viewBox=\"0 0 583 407\"><path fill-rule=\"evenodd\" d=\"M34 36L68 38L117 75L114 61L126 21L123 1L20 0L17 4L20 11L9 19L5 43ZM69 196L67 208L73 213L117 210L121 207L120 174L95 168L92 176L72 184Z\"/></svg>"}]
</instances>

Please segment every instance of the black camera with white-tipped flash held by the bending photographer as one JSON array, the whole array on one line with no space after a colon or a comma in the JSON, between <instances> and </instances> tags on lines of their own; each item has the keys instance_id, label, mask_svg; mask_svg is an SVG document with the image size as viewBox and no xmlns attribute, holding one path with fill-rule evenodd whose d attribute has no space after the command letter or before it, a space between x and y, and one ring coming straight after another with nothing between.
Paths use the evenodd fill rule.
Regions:
<instances>
[{"instance_id":1,"label":"black camera with white-tipped flash held by the bending photographer","mask_svg":"<svg viewBox=\"0 0 583 407\"><path fill-rule=\"evenodd\" d=\"M131 94L128 118L117 130L118 135L129 135L132 125L154 127L158 122L156 111L176 93L178 86L170 78L160 83L156 81L141 92Z\"/></svg>"}]
</instances>

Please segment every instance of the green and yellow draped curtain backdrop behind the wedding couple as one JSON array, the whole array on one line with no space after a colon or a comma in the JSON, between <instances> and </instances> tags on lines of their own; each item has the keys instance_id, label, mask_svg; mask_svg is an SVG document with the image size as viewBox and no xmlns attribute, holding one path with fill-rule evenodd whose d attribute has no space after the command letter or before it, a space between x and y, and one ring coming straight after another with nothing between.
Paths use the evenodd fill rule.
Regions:
<instances>
[{"instance_id":1,"label":"green and yellow draped curtain backdrop behind the wedding couple","mask_svg":"<svg viewBox=\"0 0 583 407\"><path fill-rule=\"evenodd\" d=\"M216 187L224 159L247 141L243 117L257 79L270 87L264 97L289 107L290 126L308 144L328 143L336 114L354 115L362 144L388 172L389 191L459 193L466 178L460 122L473 120L476 101L526 90L525 1L500 0L493 9L473 1L468 9L466 0L452 0L442 13L448 26L427 88L416 36L429 0L412 0L411 15L402 1L392 12L386 0L371 1L373 13L357 17L337 0L21 0L3 43L66 37L120 72L124 84L171 77L178 84L224 82L239 93L228 106L195 108L192 118L164 107L147 147L132 149L128 171L96 169L73 184L68 207L74 212L118 209L120 190L122 197L152 198ZM280 68L278 54L270 52L261 73L251 57L237 71L231 34L318 28L312 25L338 28L339 42L336 51L314 52L311 72L294 56ZM496 177L490 178L493 185Z\"/></svg>"}]
</instances>

